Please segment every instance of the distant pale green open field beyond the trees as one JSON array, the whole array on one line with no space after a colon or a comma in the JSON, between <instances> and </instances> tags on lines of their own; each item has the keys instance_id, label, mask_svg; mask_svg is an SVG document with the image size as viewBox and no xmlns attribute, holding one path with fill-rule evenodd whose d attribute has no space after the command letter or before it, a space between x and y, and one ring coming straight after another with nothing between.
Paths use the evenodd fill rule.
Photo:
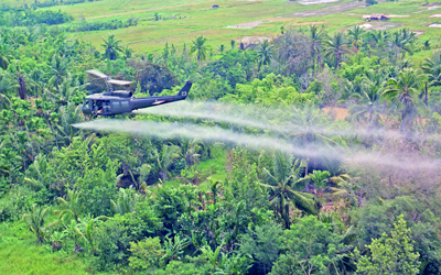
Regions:
<instances>
[{"instance_id":1,"label":"distant pale green open field beyond the trees","mask_svg":"<svg viewBox=\"0 0 441 275\"><path fill-rule=\"evenodd\" d=\"M332 2L335 1L335 2ZM3 0L10 4L23 4L28 0ZM327 3L321 3L327 2ZM354 24L367 29L394 30L402 26L416 31L422 41L430 40L433 46L441 46L441 29L430 28L441 22L441 4L422 7L424 1L400 0L365 7L358 1L336 0L101 0L74 6L57 6L47 9L62 10L76 20L139 20L137 26L115 31L97 31L69 34L92 42L99 47L101 36L115 33L138 53L160 51L165 42L181 47L191 43L196 35L208 37L208 44L217 47L229 45L230 40L255 40L278 35L280 28L305 28L311 23L324 25L329 32L345 30ZM219 6L213 9L214 4ZM154 13L162 16L153 21ZM388 22L367 23L363 15L385 13L394 15ZM430 51L429 51L430 52ZM423 58L418 53L412 58Z\"/></svg>"}]
</instances>

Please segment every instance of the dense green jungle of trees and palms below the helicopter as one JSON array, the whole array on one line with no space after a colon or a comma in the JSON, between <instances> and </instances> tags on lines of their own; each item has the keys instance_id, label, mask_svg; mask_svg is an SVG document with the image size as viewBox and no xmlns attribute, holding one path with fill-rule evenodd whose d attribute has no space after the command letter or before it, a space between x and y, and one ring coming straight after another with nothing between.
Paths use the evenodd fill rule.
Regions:
<instances>
[{"instance_id":1,"label":"dense green jungle of trees and palms below the helicopter","mask_svg":"<svg viewBox=\"0 0 441 275\"><path fill-rule=\"evenodd\" d=\"M441 153L441 52L413 66L406 57L423 45L408 30L355 26L327 36L310 26L283 30L255 48L232 43L217 52L206 45L209 37L197 36L153 55L123 48L114 34L101 48L67 40L72 25L47 26L69 21L64 13L2 16L0 229L9 230L0 233L0 255L9 243L25 244L109 273L441 271L439 165L416 167ZM120 119L219 127L304 151L78 130L72 124L90 119L78 108L83 98L105 89L85 75L93 68L133 80L137 96L175 94L191 79L192 100L261 108L261 122L273 128L159 114ZM347 116L322 110L335 106ZM389 130L399 131L381 135ZM341 160L336 147L404 161L359 165ZM311 153L319 148L331 153ZM29 230L25 240L10 228Z\"/></svg>"}]
</instances>

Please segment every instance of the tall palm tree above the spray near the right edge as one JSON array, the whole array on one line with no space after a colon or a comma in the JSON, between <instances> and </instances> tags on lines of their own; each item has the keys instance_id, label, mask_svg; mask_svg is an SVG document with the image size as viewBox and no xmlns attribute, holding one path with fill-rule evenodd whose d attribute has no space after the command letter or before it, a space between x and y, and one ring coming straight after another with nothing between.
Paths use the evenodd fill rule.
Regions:
<instances>
[{"instance_id":1,"label":"tall palm tree above the spray near the right edge","mask_svg":"<svg viewBox=\"0 0 441 275\"><path fill-rule=\"evenodd\" d=\"M387 84L388 88L383 92L381 98L401 111L401 129L406 130L407 124L411 123L417 114L418 96L423 84L423 76L418 70L404 69L398 78L391 78Z\"/></svg>"}]
</instances>

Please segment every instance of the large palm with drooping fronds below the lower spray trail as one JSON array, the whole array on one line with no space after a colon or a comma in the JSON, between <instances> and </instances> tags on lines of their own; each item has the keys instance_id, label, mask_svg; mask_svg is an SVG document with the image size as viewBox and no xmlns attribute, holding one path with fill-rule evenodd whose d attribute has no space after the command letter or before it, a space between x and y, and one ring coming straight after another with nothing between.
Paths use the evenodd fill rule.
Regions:
<instances>
[{"instance_id":1,"label":"large palm with drooping fronds below the lower spray trail","mask_svg":"<svg viewBox=\"0 0 441 275\"><path fill-rule=\"evenodd\" d=\"M300 177L305 163L277 152L272 158L272 173L263 168L261 186L270 189L269 201L275 206L276 212L284 221L286 228L290 227L290 202L302 211L311 215L319 213L319 205L311 194L294 190L295 185L303 182Z\"/></svg>"}]
</instances>

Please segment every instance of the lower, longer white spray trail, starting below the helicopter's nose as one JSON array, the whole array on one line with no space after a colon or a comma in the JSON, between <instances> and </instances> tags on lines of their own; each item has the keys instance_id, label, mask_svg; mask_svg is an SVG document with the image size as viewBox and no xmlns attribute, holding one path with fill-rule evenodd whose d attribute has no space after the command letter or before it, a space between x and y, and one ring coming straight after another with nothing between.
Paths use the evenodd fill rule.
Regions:
<instances>
[{"instance_id":1,"label":"lower, longer white spray trail, starting below the helicopter's nose","mask_svg":"<svg viewBox=\"0 0 441 275\"><path fill-rule=\"evenodd\" d=\"M313 144L311 147L295 146L277 138L249 135L233 132L222 128L200 127L191 123L95 120L74 124L73 127L94 131L123 132L162 139L187 138L203 141L219 141L224 143L247 145L254 148L270 148L281 152L308 156L340 160L345 163L385 165L400 169L432 169L441 166L441 160L419 160L416 156L397 157L390 154L373 152L351 152L340 147Z\"/></svg>"}]
</instances>

